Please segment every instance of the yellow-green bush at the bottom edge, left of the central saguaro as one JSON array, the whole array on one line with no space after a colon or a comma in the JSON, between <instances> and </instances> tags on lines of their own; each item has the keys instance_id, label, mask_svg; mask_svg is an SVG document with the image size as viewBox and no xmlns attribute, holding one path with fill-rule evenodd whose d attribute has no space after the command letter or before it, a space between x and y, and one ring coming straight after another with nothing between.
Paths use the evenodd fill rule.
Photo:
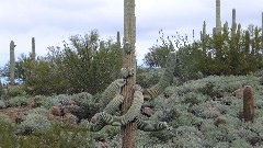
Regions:
<instances>
[{"instance_id":1,"label":"yellow-green bush at the bottom edge, left of the central saguaro","mask_svg":"<svg viewBox=\"0 0 263 148\"><path fill-rule=\"evenodd\" d=\"M45 148L90 148L94 147L92 134L87 130L79 130L69 124L54 123L42 133L20 136L18 147L45 147ZM13 145L11 145L13 146Z\"/></svg>"}]
</instances>

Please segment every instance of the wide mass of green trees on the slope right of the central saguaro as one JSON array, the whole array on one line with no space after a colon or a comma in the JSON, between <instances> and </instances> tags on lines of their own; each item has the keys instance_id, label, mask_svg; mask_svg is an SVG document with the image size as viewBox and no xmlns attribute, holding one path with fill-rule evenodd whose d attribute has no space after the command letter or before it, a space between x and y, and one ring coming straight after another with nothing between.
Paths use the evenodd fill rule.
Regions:
<instances>
[{"instance_id":1,"label":"wide mass of green trees on the slope right of the central saguaro","mask_svg":"<svg viewBox=\"0 0 263 148\"><path fill-rule=\"evenodd\" d=\"M160 38L161 45L153 45L146 54L145 65L164 67L168 53L176 50L174 76L181 81L210 75L248 75L263 67L262 34L254 25L243 31L239 24L231 34L224 29L221 34L206 35L205 39L193 43L187 41L187 36L164 37L162 32Z\"/></svg>"}]
</instances>

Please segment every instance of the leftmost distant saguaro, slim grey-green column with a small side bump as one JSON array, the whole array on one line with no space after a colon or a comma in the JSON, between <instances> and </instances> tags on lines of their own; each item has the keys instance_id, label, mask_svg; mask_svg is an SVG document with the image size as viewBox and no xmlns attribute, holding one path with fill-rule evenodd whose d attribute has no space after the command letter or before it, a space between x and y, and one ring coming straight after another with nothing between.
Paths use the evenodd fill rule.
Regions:
<instances>
[{"instance_id":1,"label":"leftmost distant saguaro, slim grey-green column with a small side bump","mask_svg":"<svg viewBox=\"0 0 263 148\"><path fill-rule=\"evenodd\" d=\"M15 59L14 59L14 42L10 43L10 83L14 86L14 68L15 68Z\"/></svg>"}]
</instances>

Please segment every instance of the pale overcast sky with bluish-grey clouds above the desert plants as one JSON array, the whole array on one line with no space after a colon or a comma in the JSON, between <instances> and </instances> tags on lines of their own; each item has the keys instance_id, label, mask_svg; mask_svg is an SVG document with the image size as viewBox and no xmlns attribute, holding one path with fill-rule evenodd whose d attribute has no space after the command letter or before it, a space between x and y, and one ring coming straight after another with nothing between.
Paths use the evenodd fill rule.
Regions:
<instances>
[{"instance_id":1,"label":"pale overcast sky with bluish-grey clouds above the desert plants","mask_svg":"<svg viewBox=\"0 0 263 148\"><path fill-rule=\"evenodd\" d=\"M232 9L237 22L261 26L263 0L221 0L221 22L231 25ZM15 57L31 52L35 37L36 55L45 56L48 46L61 46L70 35L98 30L101 38L123 36L123 0L0 0L0 67L9 61L10 42ZM207 33L216 23L216 0L136 0L137 59L142 64L148 48L157 43L159 31L165 35L187 34L199 39L206 21Z\"/></svg>"}]
</instances>

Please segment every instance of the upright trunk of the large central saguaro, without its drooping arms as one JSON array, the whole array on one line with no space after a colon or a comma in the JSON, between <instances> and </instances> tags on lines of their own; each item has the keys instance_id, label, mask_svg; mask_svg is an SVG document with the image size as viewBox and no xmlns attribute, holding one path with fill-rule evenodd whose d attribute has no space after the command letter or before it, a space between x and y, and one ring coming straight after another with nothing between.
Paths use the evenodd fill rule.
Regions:
<instances>
[{"instance_id":1,"label":"upright trunk of the large central saguaro, without its drooping arms","mask_svg":"<svg viewBox=\"0 0 263 148\"><path fill-rule=\"evenodd\" d=\"M136 18L135 18L135 0L124 0L124 55L123 67L133 71L136 69L135 58L135 42L136 42ZM135 71L134 71L135 73ZM134 94L133 88L136 82L135 75L127 78L126 86L122 89L124 102L122 105L122 115L128 112L132 105ZM123 148L134 148L136 137L136 123L129 122L122 126Z\"/></svg>"}]
</instances>

